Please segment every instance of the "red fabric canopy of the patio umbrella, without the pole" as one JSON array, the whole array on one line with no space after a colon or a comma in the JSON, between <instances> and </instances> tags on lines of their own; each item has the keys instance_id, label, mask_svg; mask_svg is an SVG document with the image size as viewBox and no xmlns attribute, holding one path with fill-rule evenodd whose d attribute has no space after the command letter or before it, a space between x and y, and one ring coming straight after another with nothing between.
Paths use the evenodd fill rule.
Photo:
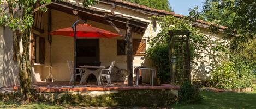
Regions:
<instances>
[{"instance_id":1,"label":"red fabric canopy of the patio umbrella, without the pole","mask_svg":"<svg viewBox=\"0 0 256 109\"><path fill-rule=\"evenodd\" d=\"M49 33L50 35L63 35L74 37L74 31L72 27L58 29ZM112 33L110 31L92 27L89 24L78 24L76 25L76 37L78 38L112 38L121 37L122 35Z\"/></svg>"}]
</instances>

